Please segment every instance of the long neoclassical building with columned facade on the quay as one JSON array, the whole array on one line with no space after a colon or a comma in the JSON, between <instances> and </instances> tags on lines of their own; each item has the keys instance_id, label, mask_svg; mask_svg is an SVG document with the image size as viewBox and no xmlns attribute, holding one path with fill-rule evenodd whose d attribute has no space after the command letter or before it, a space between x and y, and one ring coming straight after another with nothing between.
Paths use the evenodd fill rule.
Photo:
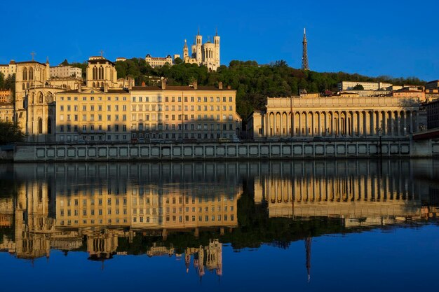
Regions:
<instances>
[{"instance_id":1,"label":"long neoclassical building with columned facade on the quay","mask_svg":"<svg viewBox=\"0 0 439 292\"><path fill-rule=\"evenodd\" d=\"M253 139L405 137L421 127L414 97L267 97L266 110L248 119Z\"/></svg>"}]
</instances>

